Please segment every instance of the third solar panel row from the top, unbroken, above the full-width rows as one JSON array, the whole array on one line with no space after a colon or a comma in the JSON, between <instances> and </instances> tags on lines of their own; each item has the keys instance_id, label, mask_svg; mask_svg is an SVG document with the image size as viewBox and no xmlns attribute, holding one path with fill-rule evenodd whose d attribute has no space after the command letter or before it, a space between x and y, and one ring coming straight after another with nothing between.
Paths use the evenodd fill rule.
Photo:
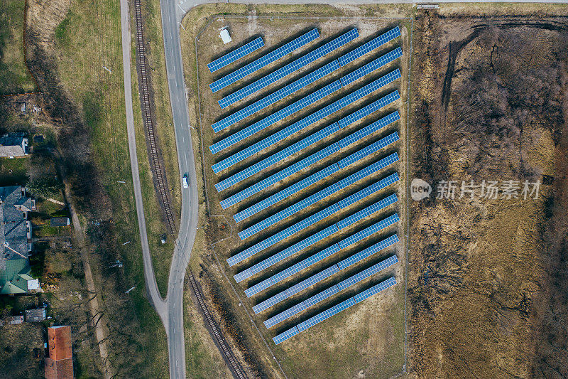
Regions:
<instances>
[{"instance_id":1,"label":"third solar panel row from the top, unbroken, above the full-width rows","mask_svg":"<svg viewBox=\"0 0 568 379\"><path fill-rule=\"evenodd\" d=\"M273 71L265 77L252 82L246 87L241 88L241 90L233 92L231 93L231 95L224 97L222 100L219 100L219 105L221 105L222 108L225 108L231 104L234 104L235 102L243 100L245 97L252 95L254 92L262 90L264 87L273 84L277 80L280 80L281 78L284 78L285 76L288 76L291 73L300 70L302 67L315 62L315 60L322 58L332 51L337 50L338 48L344 46L346 43L353 41L357 37L359 37L359 32L357 31L357 29L351 29L347 33L344 33L342 36L335 38L333 41L330 41L325 45L310 51L310 53L297 58L293 62L288 63L288 65L285 65L284 67Z\"/></svg>"}]
</instances>

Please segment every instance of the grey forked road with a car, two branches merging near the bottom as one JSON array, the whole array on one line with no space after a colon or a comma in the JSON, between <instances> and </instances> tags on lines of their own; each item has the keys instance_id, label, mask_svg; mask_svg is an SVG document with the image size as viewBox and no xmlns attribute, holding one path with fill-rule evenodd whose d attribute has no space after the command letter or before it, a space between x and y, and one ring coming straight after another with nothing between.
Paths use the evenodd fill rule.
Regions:
<instances>
[{"instance_id":1,"label":"grey forked road with a car, two branches merging near the bottom","mask_svg":"<svg viewBox=\"0 0 568 379\"><path fill-rule=\"evenodd\" d=\"M501 0L503 1L503 0ZM170 378L185 378L185 343L183 336L183 282L185 269L190 260L190 254L197 230L197 176L195 173L195 159L190 136L190 119L187 110L185 94L185 82L183 78L183 65L180 43L180 22L183 16L194 6L213 2L207 0L160 0L162 14L162 28L165 48L165 63L168 73L168 86L170 90L170 105L175 128L175 139L178 149L178 162L180 173L187 173L190 187L182 188L182 211L180 230L173 252L170 277L168 279L168 295L165 299L160 296L155 282L150 248L148 247L148 235L146 234L146 221L144 219L144 207L138 173L138 157L136 155L136 139L134 134L133 110L132 110L132 85L131 85L131 34L129 30L129 10L127 0L121 0L121 26L122 26L122 52L124 66L124 92L126 101L126 124L129 135L129 151L132 169L132 181L134 197L136 198L136 212L138 214L138 227L141 238L144 277L146 289L155 310L160 315L166 335L168 336L168 353L170 359ZM241 4L378 4L378 3L420 3L426 1L413 0L238 0L231 1ZM442 0L430 1L435 3L447 2L493 2L487 0ZM567 0L504 0L504 2L541 2L541 3L565 3ZM181 178L179 178L181 181Z\"/></svg>"}]
</instances>

